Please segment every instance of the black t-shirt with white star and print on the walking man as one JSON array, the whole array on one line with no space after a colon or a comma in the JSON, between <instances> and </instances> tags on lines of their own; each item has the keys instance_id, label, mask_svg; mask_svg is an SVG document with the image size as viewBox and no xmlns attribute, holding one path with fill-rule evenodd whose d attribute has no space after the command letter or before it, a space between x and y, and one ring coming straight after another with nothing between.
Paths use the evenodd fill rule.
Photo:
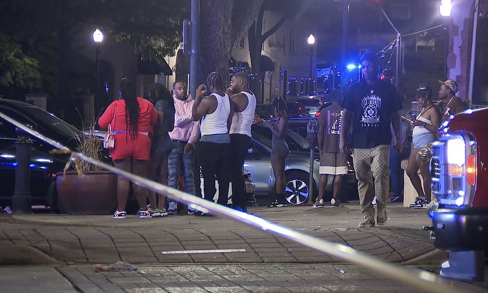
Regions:
<instances>
[{"instance_id":1,"label":"black t-shirt with white star and print on the walking man","mask_svg":"<svg viewBox=\"0 0 488 293\"><path fill-rule=\"evenodd\" d=\"M391 142L391 113L401 110L402 103L396 87L379 80L351 84L342 107L352 111L352 148L372 148Z\"/></svg>"}]
</instances>

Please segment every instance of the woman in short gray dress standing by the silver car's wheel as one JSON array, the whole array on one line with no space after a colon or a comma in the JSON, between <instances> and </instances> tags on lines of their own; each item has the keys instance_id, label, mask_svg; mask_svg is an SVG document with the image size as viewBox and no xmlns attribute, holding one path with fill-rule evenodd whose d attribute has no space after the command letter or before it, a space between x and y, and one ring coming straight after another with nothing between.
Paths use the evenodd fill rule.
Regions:
<instances>
[{"instance_id":1,"label":"woman in short gray dress standing by the silver car's wheel","mask_svg":"<svg viewBox=\"0 0 488 293\"><path fill-rule=\"evenodd\" d=\"M285 199L285 159L288 156L289 148L285 142L286 130L288 129L288 114L285 101L278 97L273 101L273 112L278 120L271 124L270 122L264 122L264 126L269 128L273 133L271 139L271 166L275 175L275 200L270 208L286 207L287 202Z\"/></svg>"}]
</instances>

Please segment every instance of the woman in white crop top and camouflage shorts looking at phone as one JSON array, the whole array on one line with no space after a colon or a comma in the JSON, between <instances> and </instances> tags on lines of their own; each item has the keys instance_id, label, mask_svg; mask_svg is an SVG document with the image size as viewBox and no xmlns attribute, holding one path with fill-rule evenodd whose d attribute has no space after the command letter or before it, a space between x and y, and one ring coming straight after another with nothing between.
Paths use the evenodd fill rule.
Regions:
<instances>
[{"instance_id":1,"label":"woman in white crop top and camouflage shorts looking at phone","mask_svg":"<svg viewBox=\"0 0 488 293\"><path fill-rule=\"evenodd\" d=\"M430 84L421 84L417 89L415 97L417 98L417 103L423 108L416 120L411 123L414 126L412 137L413 148L408 158L407 175L418 194L415 202L410 207L422 209L429 207L430 183L432 179L428 170L428 154L419 156L419 151L431 151L431 148L426 146L437 140L437 127L441 124L442 115L437 106L432 103L432 89L430 88ZM417 174L419 168L422 179L424 180L424 188L422 188L420 177Z\"/></svg>"}]
</instances>

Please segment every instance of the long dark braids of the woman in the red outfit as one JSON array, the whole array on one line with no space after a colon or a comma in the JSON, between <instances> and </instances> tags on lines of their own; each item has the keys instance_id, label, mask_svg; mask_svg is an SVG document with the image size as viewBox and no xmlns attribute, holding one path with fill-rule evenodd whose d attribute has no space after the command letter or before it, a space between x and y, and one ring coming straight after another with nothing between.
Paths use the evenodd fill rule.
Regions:
<instances>
[{"instance_id":1,"label":"long dark braids of the woman in the red outfit","mask_svg":"<svg viewBox=\"0 0 488 293\"><path fill-rule=\"evenodd\" d=\"M122 78L119 85L119 95L122 100L125 101L125 126L127 131L125 132L125 139L127 140L127 133L131 139L137 137L137 123L139 121L139 103L136 98L136 90L134 84L127 78Z\"/></svg>"}]
</instances>

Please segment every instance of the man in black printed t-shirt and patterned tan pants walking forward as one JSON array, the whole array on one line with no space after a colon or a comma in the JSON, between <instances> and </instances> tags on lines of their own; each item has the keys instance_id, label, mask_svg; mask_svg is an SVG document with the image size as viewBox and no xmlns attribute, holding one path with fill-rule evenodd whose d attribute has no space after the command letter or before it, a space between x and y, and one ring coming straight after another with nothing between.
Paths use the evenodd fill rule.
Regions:
<instances>
[{"instance_id":1,"label":"man in black printed t-shirt and patterned tan pants walking forward","mask_svg":"<svg viewBox=\"0 0 488 293\"><path fill-rule=\"evenodd\" d=\"M351 147L356 178L359 181L359 201L364 215L359 227L364 228L375 225L375 210L371 204L375 195L378 209L376 223L384 225L387 220L390 124L393 125L397 138L395 150L402 152L402 104L395 86L378 78L379 61L375 53L365 53L360 64L361 80L349 86L341 105L344 111L339 148L346 154L347 133L352 123Z\"/></svg>"}]
</instances>

